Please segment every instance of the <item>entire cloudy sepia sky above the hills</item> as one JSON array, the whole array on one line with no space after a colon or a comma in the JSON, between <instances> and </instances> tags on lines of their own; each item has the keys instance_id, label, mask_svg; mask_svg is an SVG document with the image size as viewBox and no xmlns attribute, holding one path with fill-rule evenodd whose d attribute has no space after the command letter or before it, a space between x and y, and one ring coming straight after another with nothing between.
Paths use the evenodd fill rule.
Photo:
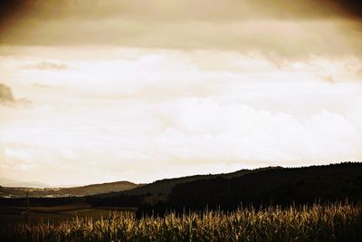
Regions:
<instances>
[{"instance_id":1,"label":"entire cloudy sepia sky above the hills","mask_svg":"<svg viewBox=\"0 0 362 242\"><path fill-rule=\"evenodd\" d=\"M361 9L2 3L0 178L144 183L362 160Z\"/></svg>"}]
</instances>

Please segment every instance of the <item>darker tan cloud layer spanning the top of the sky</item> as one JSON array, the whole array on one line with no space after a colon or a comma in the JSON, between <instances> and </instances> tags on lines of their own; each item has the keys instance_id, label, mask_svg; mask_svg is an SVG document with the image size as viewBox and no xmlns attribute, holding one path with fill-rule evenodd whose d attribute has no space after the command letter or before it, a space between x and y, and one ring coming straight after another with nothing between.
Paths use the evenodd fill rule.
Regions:
<instances>
[{"instance_id":1,"label":"darker tan cloud layer spanning the top of the sky","mask_svg":"<svg viewBox=\"0 0 362 242\"><path fill-rule=\"evenodd\" d=\"M32 17L0 33L0 43L214 49L284 58L362 54L357 0L32 3Z\"/></svg>"}]
</instances>

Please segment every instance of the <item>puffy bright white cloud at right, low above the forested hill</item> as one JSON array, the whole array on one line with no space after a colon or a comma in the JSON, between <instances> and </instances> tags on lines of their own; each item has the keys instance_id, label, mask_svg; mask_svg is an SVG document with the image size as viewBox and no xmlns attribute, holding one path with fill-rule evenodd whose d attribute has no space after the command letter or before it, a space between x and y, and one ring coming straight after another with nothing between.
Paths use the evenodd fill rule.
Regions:
<instances>
[{"instance_id":1,"label":"puffy bright white cloud at right, low above the forested hill","mask_svg":"<svg viewBox=\"0 0 362 242\"><path fill-rule=\"evenodd\" d=\"M278 160L291 165L300 160L357 160L361 155L360 131L340 113L317 111L300 119L245 104L197 99L180 104L172 105L176 125L157 141L184 160Z\"/></svg>"}]
</instances>

